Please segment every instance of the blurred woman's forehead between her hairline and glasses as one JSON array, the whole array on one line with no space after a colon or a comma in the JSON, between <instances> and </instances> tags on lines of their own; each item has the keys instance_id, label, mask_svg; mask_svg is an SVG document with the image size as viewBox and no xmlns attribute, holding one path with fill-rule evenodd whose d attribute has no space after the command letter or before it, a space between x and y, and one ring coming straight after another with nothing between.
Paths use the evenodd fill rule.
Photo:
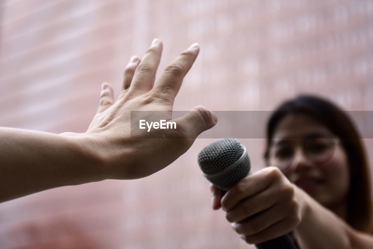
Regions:
<instances>
[{"instance_id":1,"label":"blurred woman's forehead between her hairline and glasses","mask_svg":"<svg viewBox=\"0 0 373 249\"><path fill-rule=\"evenodd\" d=\"M273 134L273 141L285 138L305 138L310 135L332 136L319 121L306 114L288 114L281 119Z\"/></svg>"}]
</instances>

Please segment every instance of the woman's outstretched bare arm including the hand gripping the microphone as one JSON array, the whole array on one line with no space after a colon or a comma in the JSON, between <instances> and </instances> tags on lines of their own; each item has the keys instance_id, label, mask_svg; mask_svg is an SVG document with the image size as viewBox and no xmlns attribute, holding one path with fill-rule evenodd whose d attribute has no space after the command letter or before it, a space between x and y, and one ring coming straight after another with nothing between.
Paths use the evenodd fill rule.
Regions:
<instances>
[{"instance_id":1,"label":"woman's outstretched bare arm including the hand gripping the microphone","mask_svg":"<svg viewBox=\"0 0 373 249\"><path fill-rule=\"evenodd\" d=\"M258 244L295 232L302 249L373 248L369 235L352 229L275 167L247 176L224 196L212 186L213 208L226 211L233 229Z\"/></svg>"}]
</instances>

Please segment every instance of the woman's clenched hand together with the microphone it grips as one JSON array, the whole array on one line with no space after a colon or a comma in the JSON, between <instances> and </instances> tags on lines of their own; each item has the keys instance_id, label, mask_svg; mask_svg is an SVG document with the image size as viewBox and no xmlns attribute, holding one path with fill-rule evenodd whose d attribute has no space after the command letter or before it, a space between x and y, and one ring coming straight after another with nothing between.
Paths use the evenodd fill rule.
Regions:
<instances>
[{"instance_id":1,"label":"woman's clenched hand together with the microphone it grips","mask_svg":"<svg viewBox=\"0 0 373 249\"><path fill-rule=\"evenodd\" d=\"M241 237L259 249L295 248L290 237L305 212L299 189L276 167L250 173L246 149L235 138L223 138L198 155L203 175L214 185L214 209L226 212L227 220ZM227 191L224 195L223 191Z\"/></svg>"}]
</instances>

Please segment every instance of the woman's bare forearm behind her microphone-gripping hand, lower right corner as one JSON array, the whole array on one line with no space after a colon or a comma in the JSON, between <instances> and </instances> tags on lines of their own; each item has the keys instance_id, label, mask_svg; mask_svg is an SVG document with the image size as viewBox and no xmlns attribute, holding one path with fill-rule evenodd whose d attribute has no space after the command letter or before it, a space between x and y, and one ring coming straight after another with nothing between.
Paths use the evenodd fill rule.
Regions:
<instances>
[{"instance_id":1,"label":"woman's bare forearm behind her microphone-gripping hand, lower right corner","mask_svg":"<svg viewBox=\"0 0 373 249\"><path fill-rule=\"evenodd\" d=\"M294 231L302 249L371 248L372 239L361 236L332 211L304 192L302 194L306 200L305 211L301 223Z\"/></svg>"}]
</instances>

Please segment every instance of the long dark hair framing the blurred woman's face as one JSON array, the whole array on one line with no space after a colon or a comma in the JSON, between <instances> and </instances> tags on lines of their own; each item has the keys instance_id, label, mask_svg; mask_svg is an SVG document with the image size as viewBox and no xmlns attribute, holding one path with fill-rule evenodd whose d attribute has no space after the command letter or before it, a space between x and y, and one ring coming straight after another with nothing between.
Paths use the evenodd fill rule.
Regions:
<instances>
[{"instance_id":1,"label":"long dark hair framing the blurred woman's face","mask_svg":"<svg viewBox=\"0 0 373 249\"><path fill-rule=\"evenodd\" d=\"M282 103L267 123L264 154L269 162L269 149L279 122L288 114L306 114L325 125L338 136L347 154L350 169L350 189L347 195L346 221L355 229L373 233L373 207L369 165L360 136L348 115L333 103L310 95L300 95Z\"/></svg>"}]
</instances>

